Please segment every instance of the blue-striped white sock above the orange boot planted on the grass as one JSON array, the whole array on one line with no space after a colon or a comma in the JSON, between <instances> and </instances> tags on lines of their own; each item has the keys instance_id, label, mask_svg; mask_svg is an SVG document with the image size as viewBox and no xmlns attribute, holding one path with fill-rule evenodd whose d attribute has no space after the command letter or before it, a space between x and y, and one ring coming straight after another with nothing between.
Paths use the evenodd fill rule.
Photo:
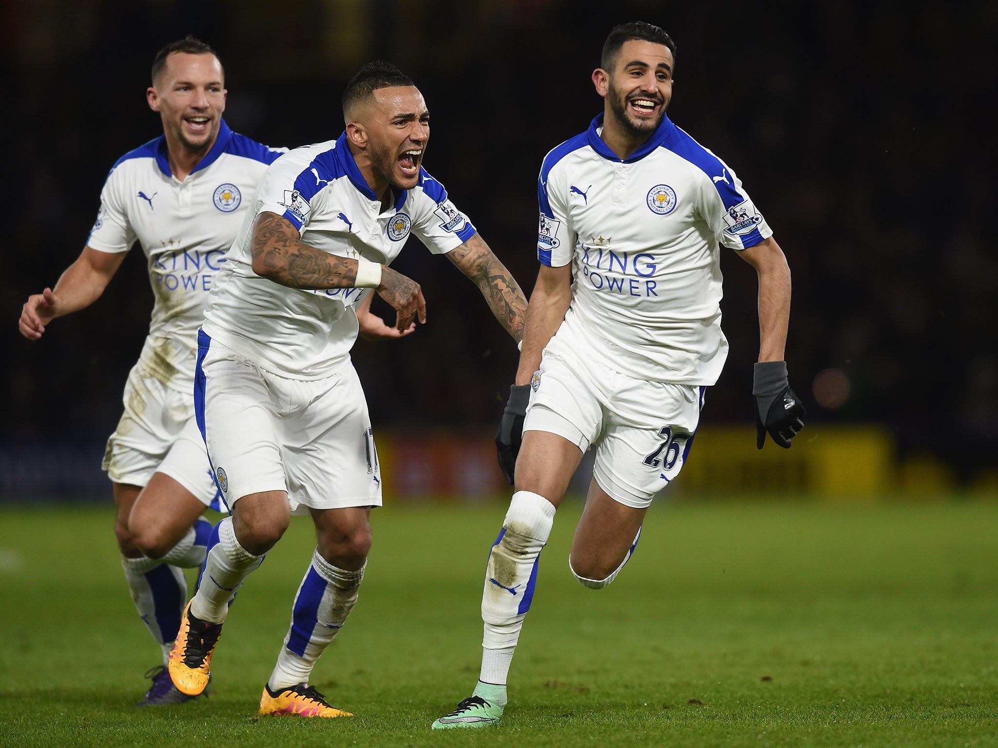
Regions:
<instances>
[{"instance_id":1,"label":"blue-striped white sock above the orange boot planted on the grass","mask_svg":"<svg viewBox=\"0 0 998 748\"><path fill-rule=\"evenodd\" d=\"M316 549L294 596L291 627L267 682L271 691L308 682L315 661L357 603L366 565L346 571L323 559Z\"/></svg>"}]
</instances>

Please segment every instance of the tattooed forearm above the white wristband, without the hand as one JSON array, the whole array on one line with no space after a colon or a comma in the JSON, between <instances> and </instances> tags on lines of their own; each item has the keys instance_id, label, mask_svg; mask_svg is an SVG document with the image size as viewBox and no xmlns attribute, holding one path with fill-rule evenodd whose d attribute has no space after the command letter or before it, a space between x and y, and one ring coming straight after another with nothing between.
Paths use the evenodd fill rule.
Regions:
<instances>
[{"instance_id":1,"label":"tattooed forearm above the white wristband, without the hand","mask_svg":"<svg viewBox=\"0 0 998 748\"><path fill-rule=\"evenodd\" d=\"M356 260L309 246L290 221L276 213L256 216L250 246L253 272L280 285L343 288L357 277Z\"/></svg>"}]
</instances>

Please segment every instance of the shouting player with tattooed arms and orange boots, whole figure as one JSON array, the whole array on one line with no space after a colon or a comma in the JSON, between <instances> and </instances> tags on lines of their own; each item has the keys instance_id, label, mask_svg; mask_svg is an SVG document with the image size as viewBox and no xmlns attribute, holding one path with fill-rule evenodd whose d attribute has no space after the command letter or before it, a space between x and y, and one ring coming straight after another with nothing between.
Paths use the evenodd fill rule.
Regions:
<instances>
[{"instance_id":1,"label":"shouting player with tattooed arms and orange boots, whole figure","mask_svg":"<svg viewBox=\"0 0 998 748\"><path fill-rule=\"evenodd\" d=\"M291 151L257 188L199 333L196 401L232 517L209 550L170 673L201 693L229 602L287 528L310 514L317 546L260 697L260 714L340 717L308 679L357 600L381 479L350 363L352 307L375 290L396 327L426 319L419 285L388 264L411 234L445 255L521 339L526 299L474 225L422 168L429 112L412 80L371 63L343 93L346 130Z\"/></svg>"}]
</instances>

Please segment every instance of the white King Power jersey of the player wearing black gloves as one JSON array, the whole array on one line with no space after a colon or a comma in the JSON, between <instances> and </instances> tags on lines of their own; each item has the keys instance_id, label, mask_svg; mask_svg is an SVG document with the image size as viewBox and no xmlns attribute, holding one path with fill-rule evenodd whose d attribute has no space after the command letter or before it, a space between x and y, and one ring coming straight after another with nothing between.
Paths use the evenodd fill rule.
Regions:
<instances>
[{"instance_id":1,"label":"white King Power jersey of the player wearing black gloves","mask_svg":"<svg viewBox=\"0 0 998 748\"><path fill-rule=\"evenodd\" d=\"M603 115L544 159L538 257L573 263L564 331L634 377L713 385L728 356L718 242L772 234L723 161L668 117L626 161Z\"/></svg>"}]
</instances>

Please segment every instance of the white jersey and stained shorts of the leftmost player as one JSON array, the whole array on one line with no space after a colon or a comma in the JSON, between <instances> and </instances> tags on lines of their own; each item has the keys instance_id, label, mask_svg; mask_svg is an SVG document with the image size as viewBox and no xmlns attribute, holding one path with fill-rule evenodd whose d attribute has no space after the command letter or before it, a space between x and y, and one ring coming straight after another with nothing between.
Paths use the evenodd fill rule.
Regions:
<instances>
[{"instance_id":1,"label":"white jersey and stained shorts of the leftmost player","mask_svg":"<svg viewBox=\"0 0 998 748\"><path fill-rule=\"evenodd\" d=\"M108 175L87 245L127 252L138 241L156 297L104 458L115 483L145 486L162 472L206 505L225 509L194 419L198 327L256 184L285 152L223 121L215 145L183 182L171 173L164 136L123 156Z\"/></svg>"}]
</instances>

